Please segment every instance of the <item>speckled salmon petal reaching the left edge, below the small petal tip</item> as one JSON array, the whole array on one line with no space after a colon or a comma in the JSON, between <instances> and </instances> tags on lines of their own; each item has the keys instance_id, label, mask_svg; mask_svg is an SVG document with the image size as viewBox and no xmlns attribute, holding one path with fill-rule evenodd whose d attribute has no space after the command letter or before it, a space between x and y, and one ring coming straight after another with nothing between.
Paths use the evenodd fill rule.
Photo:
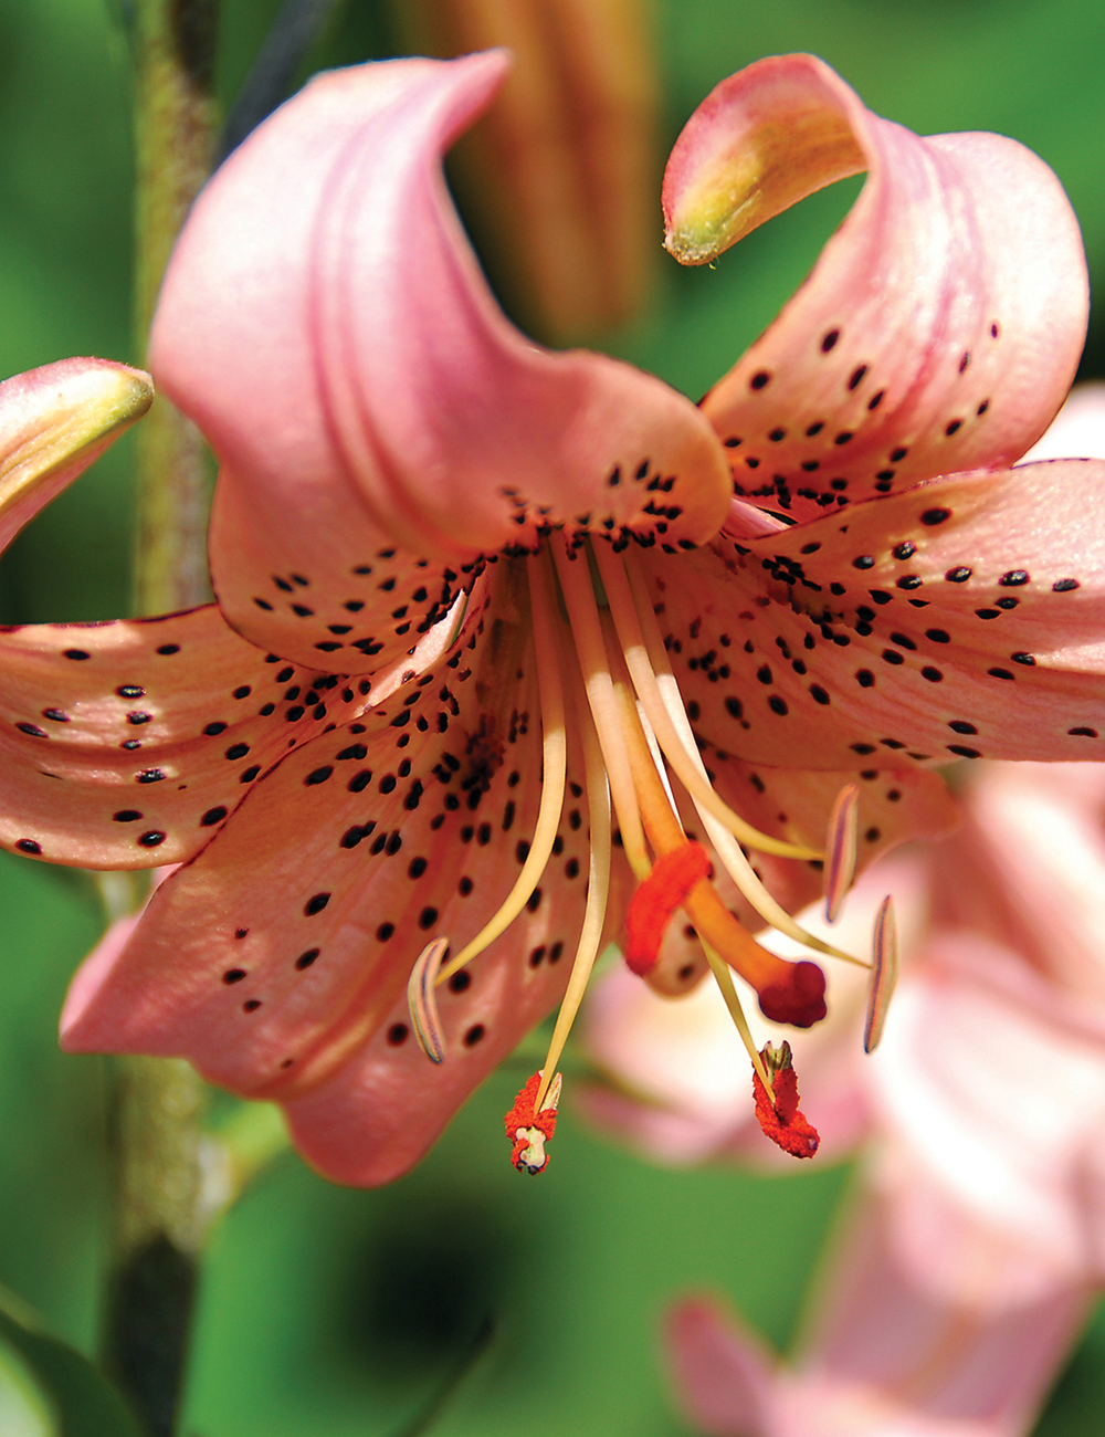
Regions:
<instances>
[{"instance_id":1,"label":"speckled salmon petal reaching the left edge, below the small petal tip","mask_svg":"<svg viewBox=\"0 0 1105 1437\"><path fill-rule=\"evenodd\" d=\"M369 687L264 654L214 605L6 629L0 845L85 868L180 862Z\"/></svg>"}]
</instances>

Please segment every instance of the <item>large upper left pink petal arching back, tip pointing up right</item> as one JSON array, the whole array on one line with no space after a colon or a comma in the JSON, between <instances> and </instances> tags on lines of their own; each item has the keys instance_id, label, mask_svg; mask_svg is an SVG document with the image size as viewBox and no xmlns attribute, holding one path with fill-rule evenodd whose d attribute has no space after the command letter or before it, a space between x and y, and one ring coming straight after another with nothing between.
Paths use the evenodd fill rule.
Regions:
<instances>
[{"instance_id":1,"label":"large upper left pink petal arching back, tip pointing up right","mask_svg":"<svg viewBox=\"0 0 1105 1437\"><path fill-rule=\"evenodd\" d=\"M208 184L170 266L151 354L224 463L216 591L236 628L300 661L351 622L348 599L365 608L345 647L316 660L335 668L412 604L418 575L398 605L375 573L358 582L381 547L435 560L421 618L447 565L532 545L546 520L651 529L662 499L672 537L700 540L724 517L724 456L687 399L604 355L545 351L494 305L441 154L504 65L313 80ZM312 615L274 592L295 573Z\"/></svg>"}]
</instances>

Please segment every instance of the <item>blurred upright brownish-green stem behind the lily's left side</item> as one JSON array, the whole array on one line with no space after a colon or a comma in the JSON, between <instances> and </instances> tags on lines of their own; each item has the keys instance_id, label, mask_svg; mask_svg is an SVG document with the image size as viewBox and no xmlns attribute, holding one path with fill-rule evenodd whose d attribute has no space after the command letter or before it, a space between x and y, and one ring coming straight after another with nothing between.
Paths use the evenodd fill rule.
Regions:
<instances>
[{"instance_id":1,"label":"blurred upright brownish-green stem behind the lily's left side","mask_svg":"<svg viewBox=\"0 0 1105 1437\"><path fill-rule=\"evenodd\" d=\"M214 147L216 0L137 0L135 333L145 352L172 241ZM167 399L138 428L135 606L203 604L208 479L203 441ZM154 1437L172 1437L205 1223L203 1083L177 1059L115 1062L115 1220L103 1364Z\"/></svg>"}]
</instances>

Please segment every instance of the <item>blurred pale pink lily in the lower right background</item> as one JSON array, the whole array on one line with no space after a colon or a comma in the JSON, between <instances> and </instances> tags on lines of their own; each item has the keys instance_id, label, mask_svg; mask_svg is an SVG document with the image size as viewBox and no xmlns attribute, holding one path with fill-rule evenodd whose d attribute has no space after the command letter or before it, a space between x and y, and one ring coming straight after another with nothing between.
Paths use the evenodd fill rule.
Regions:
<instances>
[{"instance_id":1,"label":"blurred pale pink lily in the lower right background","mask_svg":"<svg viewBox=\"0 0 1105 1437\"><path fill-rule=\"evenodd\" d=\"M885 1040L861 1065L838 1030L835 1072L825 1053L820 1065L803 1063L810 1112L826 1072L855 1088L851 1138L865 1129L871 1140L862 1190L815 1283L792 1362L710 1299L674 1309L670 1354L704 1431L1032 1430L1105 1282L1104 802L1096 764L987 764L967 787L963 829L927 864L888 865L914 884L914 898L924 881L930 912ZM874 872L861 882L861 904L879 877L885 884ZM598 1114L670 1160L680 1155L678 1112L684 1151L687 1132L706 1138L694 1069L680 1092L664 1076L665 1045L652 1045L649 1066L648 1042L634 1049L625 1032L632 1013L616 1023L612 1009L628 1009L619 986L605 981L591 1019L599 1059L618 1045L632 1050L631 1081L647 1073L654 1101L667 1088L671 1108L665 1122L641 1108L637 1125L627 1125L624 1098L621 1111ZM639 1015L638 1004L638 1023ZM700 1043L716 1030L700 1016ZM727 1091L714 1075L703 1096L723 1108ZM716 1152L746 1154L750 1106L746 1085L744 1114L714 1132Z\"/></svg>"}]
</instances>

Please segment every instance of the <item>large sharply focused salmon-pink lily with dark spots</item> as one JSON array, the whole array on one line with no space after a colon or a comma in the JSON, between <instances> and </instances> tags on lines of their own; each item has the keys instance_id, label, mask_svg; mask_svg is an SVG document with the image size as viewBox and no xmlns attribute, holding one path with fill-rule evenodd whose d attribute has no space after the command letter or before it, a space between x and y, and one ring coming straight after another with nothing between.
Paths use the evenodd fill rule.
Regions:
<instances>
[{"instance_id":1,"label":"large sharply focused salmon-pink lily with dark spots","mask_svg":"<svg viewBox=\"0 0 1105 1437\"><path fill-rule=\"evenodd\" d=\"M1065 757L1105 730L1085 519L1105 466L1006 467L1085 331L1050 171L1000 137L920 139L808 56L727 80L668 167L678 257L869 178L695 407L496 308L440 161L504 68L312 82L201 195L152 336L221 461L224 615L366 703L213 823L78 977L63 1042L187 1055L282 1102L348 1183L415 1161L568 989L512 1142L547 1135L556 1045L627 911L652 915L628 956L661 992L716 961L815 1023L820 969L749 927L802 935L841 790L858 780L865 862L950 825L927 764Z\"/></svg>"}]
</instances>

